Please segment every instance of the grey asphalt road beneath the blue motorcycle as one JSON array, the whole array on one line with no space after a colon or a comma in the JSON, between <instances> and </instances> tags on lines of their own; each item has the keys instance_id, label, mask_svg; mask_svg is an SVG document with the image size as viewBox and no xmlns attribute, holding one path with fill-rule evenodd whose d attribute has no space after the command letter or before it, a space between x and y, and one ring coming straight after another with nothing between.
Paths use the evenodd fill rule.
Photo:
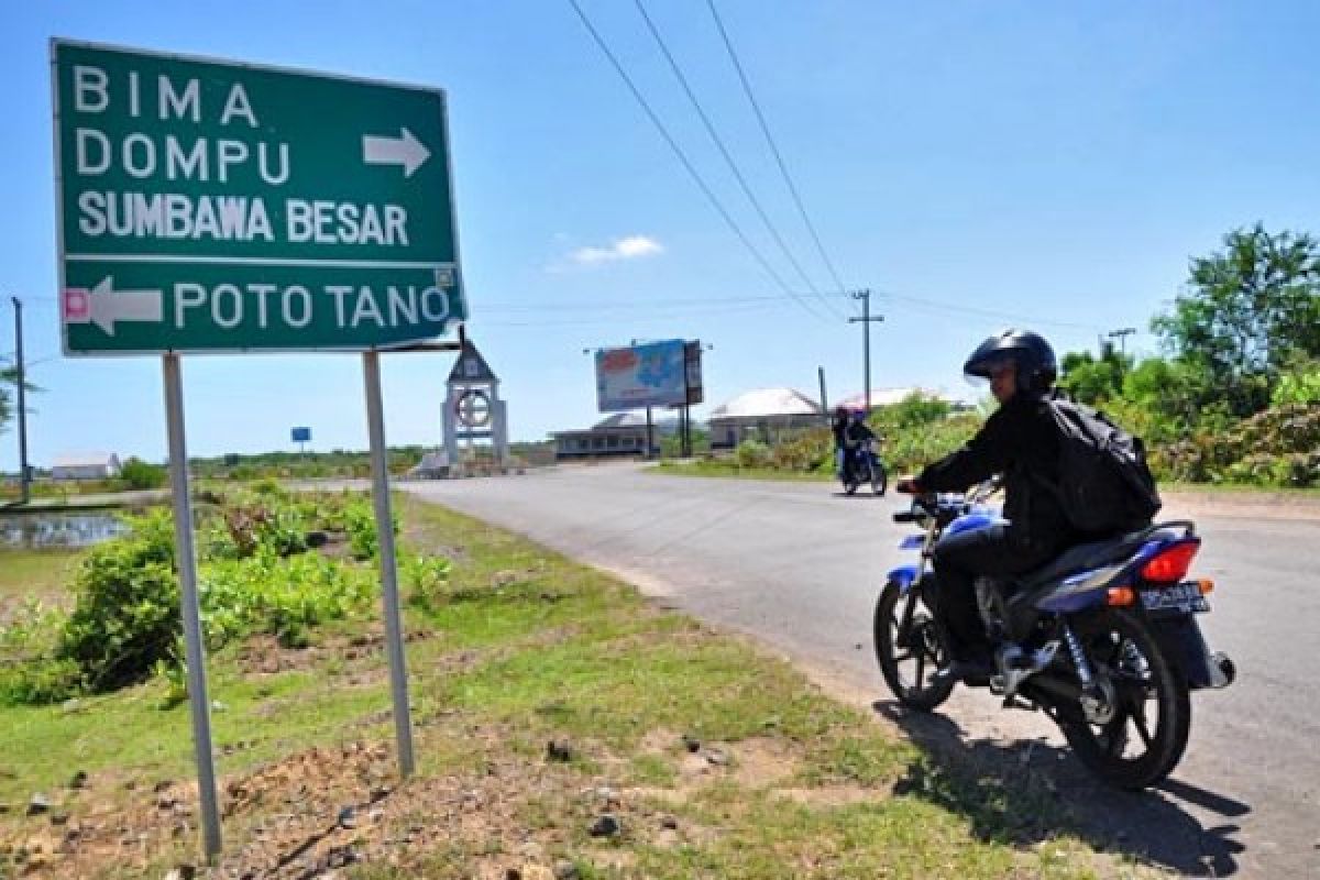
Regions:
<instances>
[{"instance_id":1,"label":"grey asphalt road beneath the blue motorcycle","mask_svg":"<svg viewBox=\"0 0 1320 880\"><path fill-rule=\"evenodd\" d=\"M1218 584L1201 623L1239 677L1193 697L1192 738L1173 777L1126 794L1096 784L1047 719L999 710L987 694L960 689L933 716L892 703L870 628L884 573L911 553L896 549L911 526L890 519L900 499L850 499L824 483L659 476L627 464L400 488L750 633L937 753L1030 765L1068 800L1068 830L1097 846L1188 876L1320 877L1320 505L1225 509L1170 499L1166 513L1200 524L1205 542L1193 571Z\"/></svg>"}]
</instances>

